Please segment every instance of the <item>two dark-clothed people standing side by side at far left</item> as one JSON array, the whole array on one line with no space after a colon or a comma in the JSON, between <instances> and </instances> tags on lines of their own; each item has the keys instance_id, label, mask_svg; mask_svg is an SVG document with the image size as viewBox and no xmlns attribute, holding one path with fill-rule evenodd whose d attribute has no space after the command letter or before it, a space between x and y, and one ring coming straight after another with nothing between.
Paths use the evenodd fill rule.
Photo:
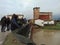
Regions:
<instances>
[{"instance_id":1,"label":"two dark-clothed people standing side by side at far left","mask_svg":"<svg viewBox=\"0 0 60 45\"><path fill-rule=\"evenodd\" d=\"M5 29L7 27L7 31L9 31L9 25L10 25L10 18L6 16L1 18L1 32L5 32Z\"/></svg>"}]
</instances>

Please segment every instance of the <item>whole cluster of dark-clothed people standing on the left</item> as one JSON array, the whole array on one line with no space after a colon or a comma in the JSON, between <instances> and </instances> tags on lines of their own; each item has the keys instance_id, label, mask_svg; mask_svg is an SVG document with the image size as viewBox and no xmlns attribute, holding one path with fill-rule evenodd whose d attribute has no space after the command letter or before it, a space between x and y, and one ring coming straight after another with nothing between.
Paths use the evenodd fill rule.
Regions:
<instances>
[{"instance_id":1,"label":"whole cluster of dark-clothed people standing on the left","mask_svg":"<svg viewBox=\"0 0 60 45\"><path fill-rule=\"evenodd\" d=\"M16 14L12 15L12 19L10 19L8 16L4 16L1 18L1 32L9 30L14 31L15 29L20 28L23 23L26 23L26 20L24 20L23 18L19 19L18 15Z\"/></svg>"}]
</instances>

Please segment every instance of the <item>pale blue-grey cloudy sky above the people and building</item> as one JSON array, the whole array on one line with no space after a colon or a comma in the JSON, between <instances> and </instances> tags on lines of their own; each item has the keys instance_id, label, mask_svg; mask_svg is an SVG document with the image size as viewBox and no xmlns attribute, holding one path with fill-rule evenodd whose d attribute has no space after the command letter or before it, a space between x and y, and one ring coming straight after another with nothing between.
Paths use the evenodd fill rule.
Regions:
<instances>
[{"instance_id":1,"label":"pale blue-grey cloudy sky above the people and building","mask_svg":"<svg viewBox=\"0 0 60 45\"><path fill-rule=\"evenodd\" d=\"M16 13L31 19L34 7L40 7L41 12L60 14L60 0L0 0L0 18Z\"/></svg>"}]
</instances>

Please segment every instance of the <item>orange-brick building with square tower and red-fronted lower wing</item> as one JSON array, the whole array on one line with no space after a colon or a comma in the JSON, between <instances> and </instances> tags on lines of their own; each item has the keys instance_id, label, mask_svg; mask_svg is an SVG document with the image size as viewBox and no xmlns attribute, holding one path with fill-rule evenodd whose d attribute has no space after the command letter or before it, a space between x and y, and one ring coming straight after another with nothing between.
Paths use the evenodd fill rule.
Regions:
<instances>
[{"instance_id":1,"label":"orange-brick building with square tower and red-fronted lower wing","mask_svg":"<svg viewBox=\"0 0 60 45\"><path fill-rule=\"evenodd\" d=\"M34 19L52 20L52 12L40 12L40 7L33 8Z\"/></svg>"}]
</instances>

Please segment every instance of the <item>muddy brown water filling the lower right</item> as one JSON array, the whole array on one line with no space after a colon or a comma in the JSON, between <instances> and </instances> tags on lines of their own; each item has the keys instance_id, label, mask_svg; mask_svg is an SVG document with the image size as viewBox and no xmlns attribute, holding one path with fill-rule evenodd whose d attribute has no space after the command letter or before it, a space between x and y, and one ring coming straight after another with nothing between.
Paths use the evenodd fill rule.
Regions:
<instances>
[{"instance_id":1,"label":"muddy brown water filling the lower right","mask_svg":"<svg viewBox=\"0 0 60 45\"><path fill-rule=\"evenodd\" d=\"M40 30L33 33L33 41L37 45L60 45L60 31L56 30Z\"/></svg>"}]
</instances>

